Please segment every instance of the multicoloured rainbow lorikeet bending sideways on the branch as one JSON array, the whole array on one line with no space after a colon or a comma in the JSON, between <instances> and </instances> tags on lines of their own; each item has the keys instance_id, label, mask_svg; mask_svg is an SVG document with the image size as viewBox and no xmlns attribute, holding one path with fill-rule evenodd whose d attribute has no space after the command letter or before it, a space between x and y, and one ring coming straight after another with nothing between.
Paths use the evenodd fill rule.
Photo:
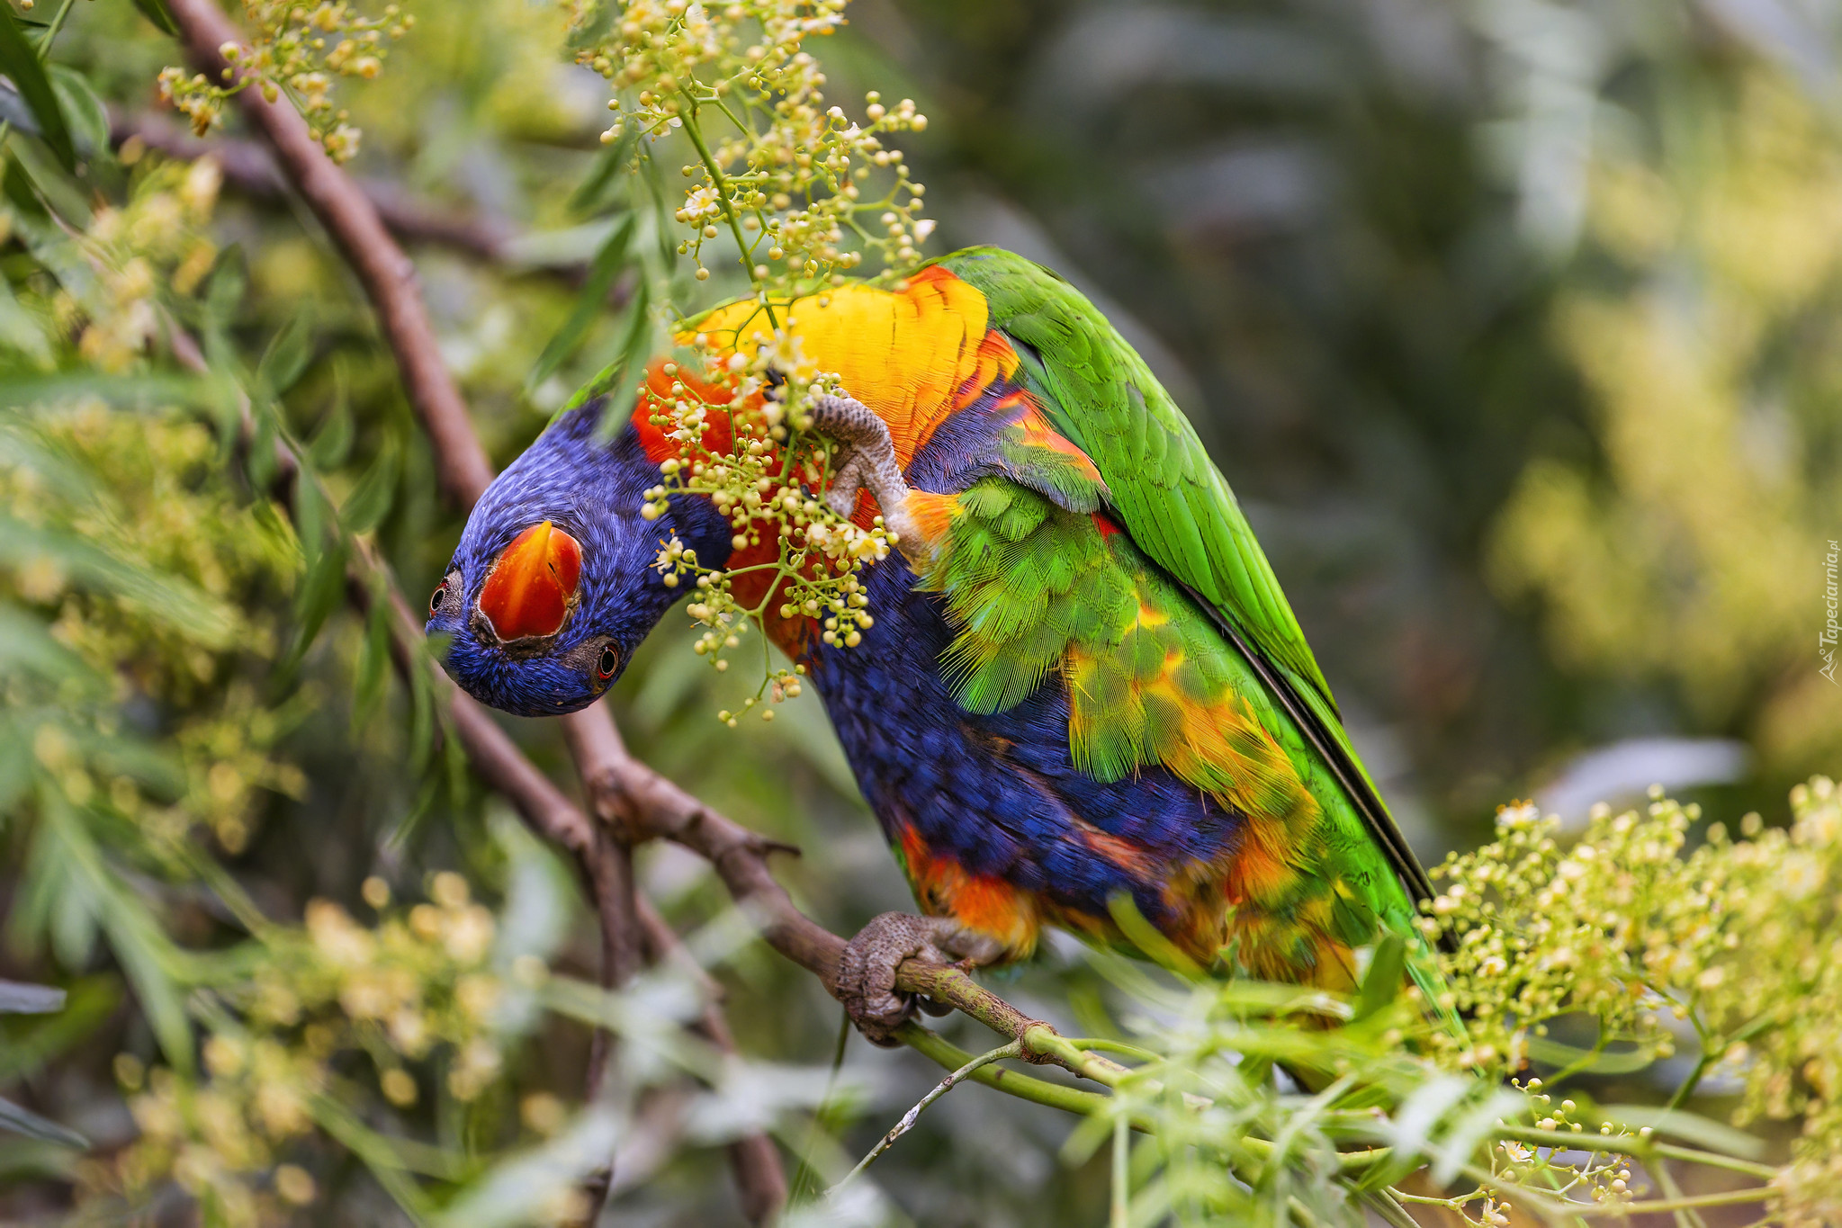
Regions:
<instances>
[{"instance_id":1,"label":"multicoloured rainbow lorikeet bending sideways on the branch","mask_svg":"<svg viewBox=\"0 0 1842 1228\"><path fill-rule=\"evenodd\" d=\"M755 311L698 330L753 353ZM862 644L766 615L927 913L886 913L851 943L840 989L860 1027L886 1038L908 1014L892 994L908 956L1020 959L1044 924L1122 943L1122 900L1194 961L1265 979L1350 989L1383 930L1422 950L1426 873L1271 565L1087 298L969 249L899 291L834 289L785 317L849 394L816 416L849 457L833 506L864 525L880 510L899 536L866 569ZM565 412L473 510L427 628L479 700L523 714L597 700L683 593L654 569L661 541L752 562L705 497L643 516L678 455L650 412L670 381L654 365L612 438L602 401ZM774 558L772 534L744 550ZM1437 976L1424 956L1409 974Z\"/></svg>"}]
</instances>

